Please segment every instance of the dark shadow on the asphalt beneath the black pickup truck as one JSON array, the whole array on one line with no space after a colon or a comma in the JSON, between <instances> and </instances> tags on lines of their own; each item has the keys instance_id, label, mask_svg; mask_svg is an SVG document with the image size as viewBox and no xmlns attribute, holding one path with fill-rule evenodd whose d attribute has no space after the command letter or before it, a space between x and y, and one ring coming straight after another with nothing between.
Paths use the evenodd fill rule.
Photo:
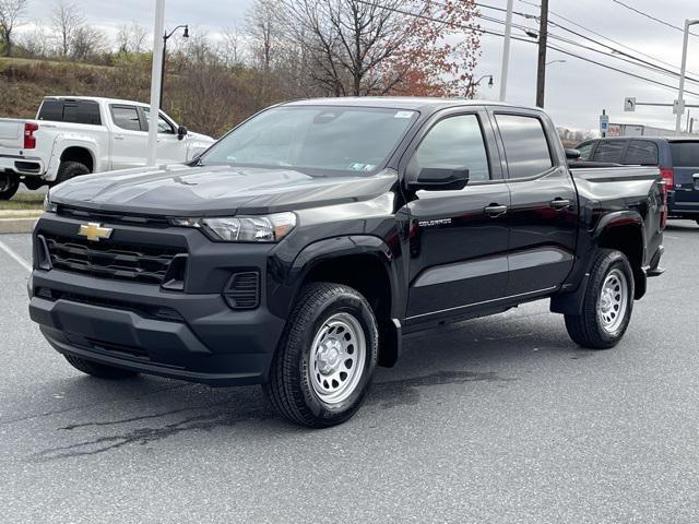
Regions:
<instances>
[{"instance_id":1,"label":"dark shadow on the asphalt beneath the black pickup truck","mask_svg":"<svg viewBox=\"0 0 699 524\"><path fill-rule=\"evenodd\" d=\"M594 353L571 350L571 347L569 343L561 343L561 333L557 330L530 333L522 332L521 325L518 327L500 323L497 332L494 332L493 322L485 321L472 321L436 334L415 336L407 342L404 355L395 368L378 371L366 405L378 406L380 409L416 405L425 388L439 385L475 386L495 383L506 388L518 378L481 369L489 365L496 368L508 367L512 360L531 357L535 348L544 348L538 350L540 357L557 360L561 358L561 352L566 350L571 355L570 358ZM426 366L427 358L429 365ZM141 378L114 384L115 388L123 388L123 396L117 396L108 403L109 412L133 412L133 416L95 420L95 412L90 409L90 418L86 414L80 416L88 421L76 420L58 427L50 439L47 439L51 442L62 441L64 444L38 451L31 460L47 462L87 457L129 445L147 446L183 432L211 432L240 428L244 424L256 426L251 431L260 431L259 425L263 424L266 432L272 430L280 436L308 431L279 418L259 388L220 390L197 384L176 386L176 382L164 381L166 388L151 391L142 395L143 398L134 398L134 384L129 382L151 380L153 379ZM92 390L93 383L92 379L86 378L74 385ZM100 388L102 385L97 389ZM94 393L83 392L88 396L93 396ZM192 396L198 397L197 405L192 405ZM153 404L162 409L147 413L150 409L144 407L144 403L149 402L149 397L153 397ZM76 414L81 410L76 410ZM376 413L368 416L376 416Z\"/></svg>"}]
</instances>

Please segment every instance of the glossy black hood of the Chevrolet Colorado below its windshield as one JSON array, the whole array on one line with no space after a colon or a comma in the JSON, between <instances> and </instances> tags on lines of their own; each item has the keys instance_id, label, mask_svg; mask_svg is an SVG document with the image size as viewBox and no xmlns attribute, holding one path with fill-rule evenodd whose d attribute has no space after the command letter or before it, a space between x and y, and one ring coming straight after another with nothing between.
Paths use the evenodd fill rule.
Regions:
<instances>
[{"instance_id":1,"label":"glossy black hood of the Chevrolet Colorado below its windshield","mask_svg":"<svg viewBox=\"0 0 699 524\"><path fill-rule=\"evenodd\" d=\"M387 169L365 177L311 177L285 168L181 164L86 175L50 191L51 202L139 215L261 214L357 202L389 191Z\"/></svg>"}]
</instances>

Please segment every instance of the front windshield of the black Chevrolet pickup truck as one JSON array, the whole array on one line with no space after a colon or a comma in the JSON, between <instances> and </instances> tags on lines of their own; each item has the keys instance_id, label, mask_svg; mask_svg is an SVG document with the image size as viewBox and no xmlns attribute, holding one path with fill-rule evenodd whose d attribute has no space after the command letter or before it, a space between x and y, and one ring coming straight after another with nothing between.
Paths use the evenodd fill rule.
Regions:
<instances>
[{"instance_id":1,"label":"front windshield of the black Chevrolet pickup truck","mask_svg":"<svg viewBox=\"0 0 699 524\"><path fill-rule=\"evenodd\" d=\"M416 111L399 109L275 107L224 136L200 164L285 167L311 176L371 175L416 119Z\"/></svg>"}]
</instances>

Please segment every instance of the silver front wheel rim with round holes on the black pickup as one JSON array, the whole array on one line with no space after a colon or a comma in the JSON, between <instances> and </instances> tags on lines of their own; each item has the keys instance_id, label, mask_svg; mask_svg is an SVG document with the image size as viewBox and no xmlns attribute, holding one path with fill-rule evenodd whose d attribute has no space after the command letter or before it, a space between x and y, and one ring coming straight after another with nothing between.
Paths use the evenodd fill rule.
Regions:
<instances>
[{"instance_id":1,"label":"silver front wheel rim with round holes on the black pickup","mask_svg":"<svg viewBox=\"0 0 699 524\"><path fill-rule=\"evenodd\" d=\"M310 381L325 404L345 401L362 380L367 344L364 329L350 313L330 317L310 349Z\"/></svg>"}]
</instances>

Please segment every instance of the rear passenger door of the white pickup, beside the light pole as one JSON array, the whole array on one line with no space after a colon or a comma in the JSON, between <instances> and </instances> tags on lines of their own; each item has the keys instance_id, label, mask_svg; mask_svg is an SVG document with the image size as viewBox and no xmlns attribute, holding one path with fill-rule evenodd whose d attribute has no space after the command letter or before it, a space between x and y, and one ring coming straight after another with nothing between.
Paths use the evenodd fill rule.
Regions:
<instances>
[{"instance_id":1,"label":"rear passenger door of the white pickup, beside the light pole","mask_svg":"<svg viewBox=\"0 0 699 524\"><path fill-rule=\"evenodd\" d=\"M145 166L147 133L142 129L141 114L137 106L110 104L111 168L128 169Z\"/></svg>"}]
</instances>

